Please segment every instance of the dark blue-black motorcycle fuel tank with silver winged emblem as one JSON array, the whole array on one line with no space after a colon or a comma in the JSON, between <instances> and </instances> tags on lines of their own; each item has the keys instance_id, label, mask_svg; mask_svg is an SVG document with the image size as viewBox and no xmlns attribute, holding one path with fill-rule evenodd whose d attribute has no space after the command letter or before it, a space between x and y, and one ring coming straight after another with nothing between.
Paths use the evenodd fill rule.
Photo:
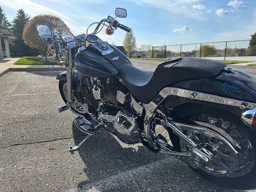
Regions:
<instances>
[{"instance_id":1,"label":"dark blue-black motorcycle fuel tank with silver winged emblem","mask_svg":"<svg viewBox=\"0 0 256 192\"><path fill-rule=\"evenodd\" d=\"M120 50L112 45L109 46L113 52L105 55L102 55L95 46L88 46L78 51L74 58L78 72L89 77L111 77L118 74L121 66L132 64Z\"/></svg>"}]
</instances>

